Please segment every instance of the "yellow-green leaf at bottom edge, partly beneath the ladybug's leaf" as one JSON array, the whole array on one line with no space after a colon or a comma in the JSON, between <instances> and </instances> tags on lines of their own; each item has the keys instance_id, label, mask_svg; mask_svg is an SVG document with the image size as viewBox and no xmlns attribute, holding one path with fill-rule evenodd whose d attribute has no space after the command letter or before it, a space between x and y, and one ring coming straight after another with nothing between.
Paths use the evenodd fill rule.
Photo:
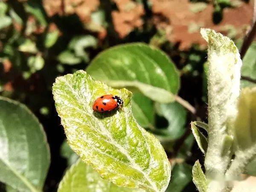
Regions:
<instances>
[{"instance_id":1,"label":"yellow-green leaf at bottom edge, partly beneath the ladybug's leaf","mask_svg":"<svg viewBox=\"0 0 256 192\"><path fill-rule=\"evenodd\" d=\"M102 179L96 171L78 160L66 172L58 186L58 192L145 192L143 189L118 187Z\"/></svg>"}]
</instances>

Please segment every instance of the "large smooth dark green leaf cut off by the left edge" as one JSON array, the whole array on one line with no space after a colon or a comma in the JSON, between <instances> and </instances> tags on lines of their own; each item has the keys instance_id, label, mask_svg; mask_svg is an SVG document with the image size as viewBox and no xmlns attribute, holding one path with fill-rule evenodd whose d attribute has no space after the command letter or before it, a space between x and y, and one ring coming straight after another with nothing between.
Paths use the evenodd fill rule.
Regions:
<instances>
[{"instance_id":1,"label":"large smooth dark green leaf cut off by the left edge","mask_svg":"<svg viewBox=\"0 0 256 192\"><path fill-rule=\"evenodd\" d=\"M25 105L0 97L0 181L41 192L50 154L44 130Z\"/></svg>"}]
</instances>

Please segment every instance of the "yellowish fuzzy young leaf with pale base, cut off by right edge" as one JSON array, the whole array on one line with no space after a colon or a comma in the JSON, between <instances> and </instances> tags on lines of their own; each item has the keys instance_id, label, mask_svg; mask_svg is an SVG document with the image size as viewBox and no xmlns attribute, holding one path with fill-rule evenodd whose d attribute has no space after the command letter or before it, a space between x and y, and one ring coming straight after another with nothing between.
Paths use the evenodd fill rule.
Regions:
<instances>
[{"instance_id":1,"label":"yellowish fuzzy young leaf with pale base, cut off by right edge","mask_svg":"<svg viewBox=\"0 0 256 192\"><path fill-rule=\"evenodd\" d=\"M226 175L236 177L256 156L256 87L244 88L238 102L238 115L235 121L235 159Z\"/></svg>"}]
</instances>

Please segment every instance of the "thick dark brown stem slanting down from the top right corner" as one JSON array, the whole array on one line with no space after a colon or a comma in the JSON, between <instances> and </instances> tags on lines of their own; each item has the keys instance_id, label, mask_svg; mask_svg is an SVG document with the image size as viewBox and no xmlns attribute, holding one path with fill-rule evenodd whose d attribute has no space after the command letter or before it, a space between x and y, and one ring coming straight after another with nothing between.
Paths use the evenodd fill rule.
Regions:
<instances>
[{"instance_id":1,"label":"thick dark brown stem slanting down from the top right corner","mask_svg":"<svg viewBox=\"0 0 256 192\"><path fill-rule=\"evenodd\" d=\"M254 1L254 8L253 8L253 24L251 29L245 35L244 42L240 50L241 59L244 58L244 55L247 52L248 48L250 47L250 44L253 42L255 35L256 35L256 1Z\"/></svg>"}]
</instances>

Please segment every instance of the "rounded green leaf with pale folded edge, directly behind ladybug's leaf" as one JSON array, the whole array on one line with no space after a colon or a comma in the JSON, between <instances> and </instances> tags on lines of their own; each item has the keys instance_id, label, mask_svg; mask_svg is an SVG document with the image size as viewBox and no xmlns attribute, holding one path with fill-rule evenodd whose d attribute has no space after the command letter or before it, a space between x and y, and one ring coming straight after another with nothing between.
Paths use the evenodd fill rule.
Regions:
<instances>
[{"instance_id":1,"label":"rounded green leaf with pale folded edge, directly behind ladybug's leaf","mask_svg":"<svg viewBox=\"0 0 256 192\"><path fill-rule=\"evenodd\" d=\"M101 52L87 67L87 72L113 87L135 87L161 103L173 102L180 86L177 69L167 55L141 43Z\"/></svg>"}]
</instances>

